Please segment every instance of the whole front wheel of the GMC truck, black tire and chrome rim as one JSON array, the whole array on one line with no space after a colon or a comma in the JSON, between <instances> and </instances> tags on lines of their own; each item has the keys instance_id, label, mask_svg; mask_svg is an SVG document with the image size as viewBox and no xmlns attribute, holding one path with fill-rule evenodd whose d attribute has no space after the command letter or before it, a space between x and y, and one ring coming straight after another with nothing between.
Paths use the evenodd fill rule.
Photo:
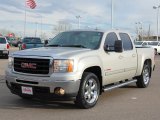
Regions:
<instances>
[{"instance_id":1,"label":"whole front wheel of the GMC truck, black tire and chrome rim","mask_svg":"<svg viewBox=\"0 0 160 120\"><path fill-rule=\"evenodd\" d=\"M75 104L80 108L92 108L98 101L99 93L100 83L98 77L93 73L85 72L82 76Z\"/></svg>"}]
</instances>

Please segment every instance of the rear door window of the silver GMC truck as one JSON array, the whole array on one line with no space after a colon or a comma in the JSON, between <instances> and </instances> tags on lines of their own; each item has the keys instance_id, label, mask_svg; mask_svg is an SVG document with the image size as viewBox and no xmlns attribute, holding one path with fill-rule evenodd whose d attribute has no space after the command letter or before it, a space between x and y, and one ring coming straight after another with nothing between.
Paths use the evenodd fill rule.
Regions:
<instances>
[{"instance_id":1,"label":"rear door window of the silver GMC truck","mask_svg":"<svg viewBox=\"0 0 160 120\"><path fill-rule=\"evenodd\" d=\"M124 51L132 50L133 45L132 45L132 42L131 42L131 39L130 39L129 35L126 34L126 33L119 33L119 36L120 36L120 38L123 42Z\"/></svg>"}]
</instances>

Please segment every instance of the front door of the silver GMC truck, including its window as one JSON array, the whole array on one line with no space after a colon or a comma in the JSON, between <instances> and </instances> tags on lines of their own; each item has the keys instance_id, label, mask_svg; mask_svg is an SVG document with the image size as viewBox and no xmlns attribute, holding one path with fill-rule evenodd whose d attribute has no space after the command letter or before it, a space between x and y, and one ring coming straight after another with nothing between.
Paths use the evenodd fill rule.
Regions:
<instances>
[{"instance_id":1,"label":"front door of the silver GMC truck, including its window","mask_svg":"<svg viewBox=\"0 0 160 120\"><path fill-rule=\"evenodd\" d=\"M125 78L124 55L114 51L115 41L118 40L116 33L108 33L105 39L105 46L108 46L108 51L103 53L103 70L104 82L103 85L115 83Z\"/></svg>"}]
</instances>

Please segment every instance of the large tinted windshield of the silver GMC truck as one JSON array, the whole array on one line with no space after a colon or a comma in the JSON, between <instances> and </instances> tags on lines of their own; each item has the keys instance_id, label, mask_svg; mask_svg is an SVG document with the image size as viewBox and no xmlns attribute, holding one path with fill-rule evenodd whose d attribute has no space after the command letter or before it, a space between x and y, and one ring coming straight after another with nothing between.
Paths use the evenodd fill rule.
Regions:
<instances>
[{"instance_id":1,"label":"large tinted windshield of the silver GMC truck","mask_svg":"<svg viewBox=\"0 0 160 120\"><path fill-rule=\"evenodd\" d=\"M50 40L48 46L98 49L102 35L102 32L94 31L62 32Z\"/></svg>"}]
</instances>

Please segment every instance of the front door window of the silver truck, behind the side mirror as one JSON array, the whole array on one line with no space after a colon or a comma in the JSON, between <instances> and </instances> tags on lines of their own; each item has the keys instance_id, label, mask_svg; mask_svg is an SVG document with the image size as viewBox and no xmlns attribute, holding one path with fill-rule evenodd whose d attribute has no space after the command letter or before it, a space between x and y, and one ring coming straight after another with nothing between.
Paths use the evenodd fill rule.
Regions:
<instances>
[{"instance_id":1,"label":"front door window of the silver truck, behind the side mirror","mask_svg":"<svg viewBox=\"0 0 160 120\"><path fill-rule=\"evenodd\" d=\"M116 33L108 33L104 45L108 45L109 50L114 51L114 44L116 40L118 40Z\"/></svg>"}]
</instances>

